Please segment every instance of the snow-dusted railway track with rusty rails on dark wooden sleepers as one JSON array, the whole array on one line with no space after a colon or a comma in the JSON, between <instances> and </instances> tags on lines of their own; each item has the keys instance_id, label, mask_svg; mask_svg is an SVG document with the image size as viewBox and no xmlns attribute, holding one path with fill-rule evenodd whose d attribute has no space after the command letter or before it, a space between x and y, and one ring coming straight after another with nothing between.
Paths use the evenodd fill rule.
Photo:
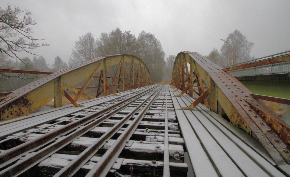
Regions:
<instances>
[{"instance_id":1,"label":"snow-dusted railway track with rusty rails on dark wooden sleepers","mask_svg":"<svg viewBox=\"0 0 290 177\"><path fill-rule=\"evenodd\" d=\"M169 86L120 95L0 125L0 176L186 176Z\"/></svg>"}]
</instances>

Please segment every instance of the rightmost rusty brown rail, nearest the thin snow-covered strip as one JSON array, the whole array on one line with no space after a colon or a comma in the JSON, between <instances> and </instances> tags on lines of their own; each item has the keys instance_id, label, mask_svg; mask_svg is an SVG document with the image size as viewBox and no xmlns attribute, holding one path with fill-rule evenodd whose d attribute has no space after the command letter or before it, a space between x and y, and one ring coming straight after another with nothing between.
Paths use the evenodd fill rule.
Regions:
<instances>
[{"instance_id":1,"label":"rightmost rusty brown rail, nearest the thin snow-covered strip","mask_svg":"<svg viewBox=\"0 0 290 177\"><path fill-rule=\"evenodd\" d=\"M164 86L162 86L164 87ZM144 117L144 114L147 112L147 110L150 108L151 104L157 97L157 95L162 90L162 87L157 89L154 93L155 96L149 101L149 103L140 111L140 113L134 118L134 120L129 124L129 126L123 131L123 133L117 138L117 140L114 142L114 144L104 153L102 158L95 164L95 166L88 172L86 177L92 177L92 176L102 176L105 177L113 164L115 163L115 160L118 158L119 154L123 150L123 148L126 145L126 141L130 139L132 134L134 133L135 129L138 127L139 122Z\"/></svg>"}]
</instances>

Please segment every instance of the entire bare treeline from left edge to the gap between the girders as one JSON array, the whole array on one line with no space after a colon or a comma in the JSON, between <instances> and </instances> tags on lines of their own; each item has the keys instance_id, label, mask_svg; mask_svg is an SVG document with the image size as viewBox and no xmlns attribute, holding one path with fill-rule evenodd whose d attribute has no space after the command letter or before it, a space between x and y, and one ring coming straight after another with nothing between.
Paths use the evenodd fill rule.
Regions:
<instances>
[{"instance_id":1,"label":"entire bare treeline from left edge to the gap between the girders","mask_svg":"<svg viewBox=\"0 0 290 177\"><path fill-rule=\"evenodd\" d=\"M13 59L1 53L0 68L56 72L99 56L115 54L131 54L142 59L150 71L153 83L171 81L175 55L170 55L165 61L165 53L160 41L150 32L142 31L138 37L135 37L130 31L122 32L119 28L108 33L103 32L96 38L91 32L80 36L75 41L74 48L68 59L68 64L60 59L59 56L55 57L54 64L49 66L43 56L35 56L32 59L25 57L20 61L19 59ZM111 69L114 70L114 67ZM0 73L0 92L14 91L43 76L35 74ZM97 83L95 80L92 82Z\"/></svg>"}]
</instances>

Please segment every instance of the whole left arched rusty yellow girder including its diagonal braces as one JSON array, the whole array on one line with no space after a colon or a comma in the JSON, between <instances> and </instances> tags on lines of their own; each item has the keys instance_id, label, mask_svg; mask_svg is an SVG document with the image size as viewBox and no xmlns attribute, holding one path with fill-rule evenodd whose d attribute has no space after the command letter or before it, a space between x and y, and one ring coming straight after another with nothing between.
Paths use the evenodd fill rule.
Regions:
<instances>
[{"instance_id":1,"label":"whole left arched rusty yellow girder including its diagonal braces","mask_svg":"<svg viewBox=\"0 0 290 177\"><path fill-rule=\"evenodd\" d=\"M118 65L118 68L113 73L114 75L112 75L109 68L114 65ZM99 71L101 74L95 76ZM117 77L118 73L119 75ZM55 107L61 107L62 95L68 98L74 106L82 107L82 105L77 104L77 100L80 96L86 99L92 99L90 96L85 95L83 91L92 88L87 86L94 77L99 78L98 85L93 87L97 88L96 97L99 97L101 93L106 96L111 92L117 95L112 89L113 86L120 92L120 89L122 91L131 91L131 89L152 85L149 70L145 63L138 57L127 54L97 57L76 66L51 73L1 97L0 119L1 121L5 121L20 116L23 116L21 119L26 119L25 115L35 112L52 99L54 99ZM107 84L107 79L112 80L111 85ZM86 80L86 83L81 88L73 87L84 80ZM117 80L118 83L116 83ZM119 88L120 86L121 88ZM66 93L66 90L71 90L76 93L76 97L70 97Z\"/></svg>"}]
</instances>

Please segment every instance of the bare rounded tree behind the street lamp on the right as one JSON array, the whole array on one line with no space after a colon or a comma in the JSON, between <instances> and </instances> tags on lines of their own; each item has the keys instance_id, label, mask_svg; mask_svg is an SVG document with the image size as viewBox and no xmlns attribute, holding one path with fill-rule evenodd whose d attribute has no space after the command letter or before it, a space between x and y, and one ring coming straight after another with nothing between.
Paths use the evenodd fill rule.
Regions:
<instances>
[{"instance_id":1,"label":"bare rounded tree behind the street lamp on the right","mask_svg":"<svg viewBox=\"0 0 290 177\"><path fill-rule=\"evenodd\" d=\"M239 30L230 33L224 40L224 45L220 49L222 57L222 66L229 66L247 61L250 58L250 52L254 46L249 42Z\"/></svg>"}]
</instances>

